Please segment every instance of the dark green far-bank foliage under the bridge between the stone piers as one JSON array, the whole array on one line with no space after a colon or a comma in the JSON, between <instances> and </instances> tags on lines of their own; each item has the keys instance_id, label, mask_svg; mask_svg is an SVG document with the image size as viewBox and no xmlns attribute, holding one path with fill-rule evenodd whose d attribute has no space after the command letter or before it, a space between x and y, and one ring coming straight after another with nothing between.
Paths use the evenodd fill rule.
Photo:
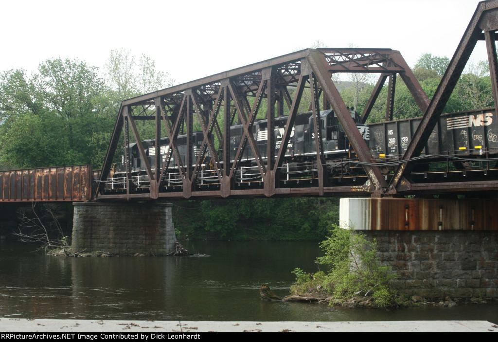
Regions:
<instances>
[{"instance_id":1,"label":"dark green far-bank foliage under the bridge between the stone piers","mask_svg":"<svg viewBox=\"0 0 498 342\"><path fill-rule=\"evenodd\" d=\"M173 218L178 238L321 239L339 220L339 199L177 201Z\"/></svg>"}]
</instances>

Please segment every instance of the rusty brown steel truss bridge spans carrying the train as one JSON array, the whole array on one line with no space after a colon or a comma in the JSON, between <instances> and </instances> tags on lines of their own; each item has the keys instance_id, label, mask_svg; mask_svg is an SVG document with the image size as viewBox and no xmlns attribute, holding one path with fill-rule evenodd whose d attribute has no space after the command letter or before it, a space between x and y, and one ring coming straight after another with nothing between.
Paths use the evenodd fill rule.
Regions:
<instances>
[{"instance_id":1,"label":"rusty brown steel truss bridge spans carrying the train","mask_svg":"<svg viewBox=\"0 0 498 342\"><path fill-rule=\"evenodd\" d=\"M498 190L495 164L492 170L483 167L475 177L466 177L466 166L456 162L461 174L448 179L444 173L429 176L415 168L416 157L427 146L479 40L486 41L497 103L497 30L498 2L480 2L431 101L398 51L356 48L301 50L126 100L95 198L382 197ZM340 73L378 75L363 113L352 114L348 108L351 104L341 98L333 82L334 75ZM397 163L388 165L373 156L372 146L359 126L366 122L386 82L385 116L392 120L396 77L406 84L423 117L405 141L407 146L396 157ZM303 109L308 111L309 122L303 134L313 141L306 158L298 155L289 142L303 120L304 116L298 115ZM324 146L328 137L322 136L323 128L329 126L324 115L331 113L326 112L329 109L334 111L331 120L337 119L334 124L347 137L347 146L336 147L342 154L330 151L330 144ZM151 126L153 122L155 137L144 141L140 132L147 120ZM240 132L237 139L233 139L234 127ZM264 147L260 143L263 140ZM119 155L123 151L124 164L118 176L113 166L118 160L117 149ZM485 150L484 156L489 161L487 153ZM472 152L469 156L483 157ZM138 171L132 158L140 160ZM295 160L292 166L289 160ZM450 161L446 159L446 163ZM306 176L291 176L303 171Z\"/></svg>"}]
</instances>

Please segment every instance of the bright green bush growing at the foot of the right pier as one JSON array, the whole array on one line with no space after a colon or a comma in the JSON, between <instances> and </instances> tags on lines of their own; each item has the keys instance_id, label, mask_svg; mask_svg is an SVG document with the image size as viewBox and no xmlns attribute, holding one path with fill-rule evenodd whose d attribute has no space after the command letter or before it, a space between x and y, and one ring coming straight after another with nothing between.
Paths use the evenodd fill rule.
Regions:
<instances>
[{"instance_id":1,"label":"bright green bush growing at the foot of the right pier","mask_svg":"<svg viewBox=\"0 0 498 342\"><path fill-rule=\"evenodd\" d=\"M368 241L362 232L333 225L330 236L320 243L325 255L317 263L328 271L307 274L296 268L294 294L321 292L336 300L371 297L375 306L395 304L396 291L391 281L396 275L377 256L376 242ZM330 302L334 304L334 300Z\"/></svg>"}]
</instances>

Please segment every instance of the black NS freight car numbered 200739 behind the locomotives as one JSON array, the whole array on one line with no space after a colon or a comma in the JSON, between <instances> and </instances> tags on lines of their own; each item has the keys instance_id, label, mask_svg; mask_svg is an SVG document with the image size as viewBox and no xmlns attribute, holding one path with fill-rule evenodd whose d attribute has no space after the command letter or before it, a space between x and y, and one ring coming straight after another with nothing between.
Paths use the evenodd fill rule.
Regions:
<instances>
[{"instance_id":1,"label":"black NS freight car numbered 200739 behind the locomotives","mask_svg":"<svg viewBox=\"0 0 498 342\"><path fill-rule=\"evenodd\" d=\"M405 153L421 118L369 124L373 156L396 157ZM494 109L441 115L431 132L425 154L481 154L488 148L498 153L498 119Z\"/></svg>"}]
</instances>

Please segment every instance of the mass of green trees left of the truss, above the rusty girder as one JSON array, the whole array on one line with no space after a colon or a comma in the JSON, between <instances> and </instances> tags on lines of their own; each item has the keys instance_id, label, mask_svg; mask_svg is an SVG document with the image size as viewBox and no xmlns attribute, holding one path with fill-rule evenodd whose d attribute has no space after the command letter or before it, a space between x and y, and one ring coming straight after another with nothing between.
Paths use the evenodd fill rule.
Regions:
<instances>
[{"instance_id":1,"label":"mass of green trees left of the truss, above the rusty girder","mask_svg":"<svg viewBox=\"0 0 498 342\"><path fill-rule=\"evenodd\" d=\"M61 58L40 63L31 75L1 73L0 169L100 168L121 101L172 84L145 55L135 63L128 51L113 50L108 68L107 83L98 68ZM123 74L125 86L116 81Z\"/></svg>"}]
</instances>

